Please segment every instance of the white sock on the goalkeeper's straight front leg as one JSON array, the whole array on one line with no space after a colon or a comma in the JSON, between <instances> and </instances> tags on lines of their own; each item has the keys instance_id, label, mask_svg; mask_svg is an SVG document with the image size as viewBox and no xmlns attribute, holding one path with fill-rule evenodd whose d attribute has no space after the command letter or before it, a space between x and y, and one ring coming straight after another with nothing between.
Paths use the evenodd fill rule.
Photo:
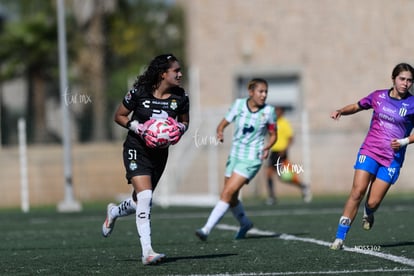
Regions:
<instances>
[{"instance_id":1,"label":"white sock on the goalkeeper's straight front leg","mask_svg":"<svg viewBox=\"0 0 414 276\"><path fill-rule=\"evenodd\" d=\"M142 256L152 253L151 247L151 200L152 191L144 190L137 194L136 224L141 241Z\"/></svg>"}]
</instances>

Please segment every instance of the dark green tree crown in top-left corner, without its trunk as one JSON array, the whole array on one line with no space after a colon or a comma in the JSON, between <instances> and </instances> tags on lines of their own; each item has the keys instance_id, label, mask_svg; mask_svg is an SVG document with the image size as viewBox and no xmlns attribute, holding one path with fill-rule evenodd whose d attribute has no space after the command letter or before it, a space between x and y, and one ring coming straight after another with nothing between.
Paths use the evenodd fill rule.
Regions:
<instances>
[{"instance_id":1,"label":"dark green tree crown in top-left corner, without its trunk","mask_svg":"<svg viewBox=\"0 0 414 276\"><path fill-rule=\"evenodd\" d=\"M54 76L57 67L56 17L51 1L1 1L8 10L0 35L1 80L39 70Z\"/></svg>"}]
</instances>

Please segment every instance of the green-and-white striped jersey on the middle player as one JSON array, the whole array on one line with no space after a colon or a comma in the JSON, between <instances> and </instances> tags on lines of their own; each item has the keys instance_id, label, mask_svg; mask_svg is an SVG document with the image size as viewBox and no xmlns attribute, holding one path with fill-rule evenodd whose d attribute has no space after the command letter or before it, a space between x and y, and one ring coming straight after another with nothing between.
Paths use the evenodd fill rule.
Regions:
<instances>
[{"instance_id":1,"label":"green-and-white striped jersey on the middle player","mask_svg":"<svg viewBox=\"0 0 414 276\"><path fill-rule=\"evenodd\" d=\"M237 99L224 117L235 124L230 155L243 160L260 160L268 127L276 125L276 113L274 107L267 104L252 112L247 100Z\"/></svg>"}]
</instances>

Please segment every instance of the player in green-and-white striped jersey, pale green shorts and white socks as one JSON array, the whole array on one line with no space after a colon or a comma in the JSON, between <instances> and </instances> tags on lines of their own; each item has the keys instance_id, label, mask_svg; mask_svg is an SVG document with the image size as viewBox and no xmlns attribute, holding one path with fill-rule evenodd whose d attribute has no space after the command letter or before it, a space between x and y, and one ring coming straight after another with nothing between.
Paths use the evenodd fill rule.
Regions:
<instances>
[{"instance_id":1,"label":"player in green-and-white striped jersey, pale green shorts and white socks","mask_svg":"<svg viewBox=\"0 0 414 276\"><path fill-rule=\"evenodd\" d=\"M196 235L202 241L207 240L211 230L229 208L240 223L236 239L244 238L253 227L239 201L239 191L259 171L269 149L277 140L277 132L274 108L265 103L268 89L266 80L253 79L247 88L249 97L237 99L217 127L217 138L220 141L223 141L224 128L232 122L235 124L235 131L220 200L211 211L204 227L196 230ZM265 146L266 134L269 134L269 139Z\"/></svg>"}]
</instances>

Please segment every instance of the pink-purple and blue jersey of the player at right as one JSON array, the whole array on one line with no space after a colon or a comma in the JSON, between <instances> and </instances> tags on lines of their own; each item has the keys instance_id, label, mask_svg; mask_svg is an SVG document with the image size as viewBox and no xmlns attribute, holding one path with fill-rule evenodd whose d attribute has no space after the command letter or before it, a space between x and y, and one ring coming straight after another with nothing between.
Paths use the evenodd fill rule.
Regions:
<instances>
[{"instance_id":1,"label":"pink-purple and blue jersey of the player at right","mask_svg":"<svg viewBox=\"0 0 414 276\"><path fill-rule=\"evenodd\" d=\"M371 125L359 153L386 167L393 161L402 167L407 147L394 152L391 141L410 135L414 126L414 96L408 94L399 100L391 98L389 93L388 89L376 90L358 102L362 109L373 109Z\"/></svg>"}]
</instances>

